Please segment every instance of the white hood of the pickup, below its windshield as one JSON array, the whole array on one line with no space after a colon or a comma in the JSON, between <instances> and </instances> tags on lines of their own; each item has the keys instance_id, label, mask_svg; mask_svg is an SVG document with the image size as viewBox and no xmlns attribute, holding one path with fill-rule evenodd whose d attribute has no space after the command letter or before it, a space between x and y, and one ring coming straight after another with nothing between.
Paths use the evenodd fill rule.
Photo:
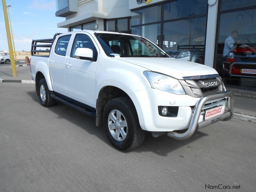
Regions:
<instances>
[{"instance_id":1,"label":"white hood of the pickup, below its windshield","mask_svg":"<svg viewBox=\"0 0 256 192\"><path fill-rule=\"evenodd\" d=\"M175 58L115 57L114 59L132 63L143 68L146 68L150 71L163 73L177 79L182 79L182 77L186 76L218 74L218 72L211 67Z\"/></svg>"}]
</instances>

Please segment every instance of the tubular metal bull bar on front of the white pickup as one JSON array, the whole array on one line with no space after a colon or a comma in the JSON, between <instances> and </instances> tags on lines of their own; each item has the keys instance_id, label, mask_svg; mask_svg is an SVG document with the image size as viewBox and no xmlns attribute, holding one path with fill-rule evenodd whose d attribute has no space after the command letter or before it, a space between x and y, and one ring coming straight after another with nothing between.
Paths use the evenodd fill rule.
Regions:
<instances>
[{"instance_id":1,"label":"tubular metal bull bar on front of the white pickup","mask_svg":"<svg viewBox=\"0 0 256 192\"><path fill-rule=\"evenodd\" d=\"M208 119L201 123L198 123L198 120L199 120L199 117L200 117L200 114L201 114L204 104L207 101L221 99L221 98L227 98L228 111L226 111L224 114L222 114L220 116L212 117L211 119ZM192 115L192 119L191 119L188 130L184 133L177 133L175 131L167 132L167 135L169 137L172 137L177 140L186 140L186 139L190 138L197 129L201 129L201 128L208 126L210 124L213 124L217 121L228 121L233 117L233 114L234 114L234 105L233 105L232 92L225 91L225 92L216 93L216 94L212 94L212 95L205 95L196 104L196 107L195 107L194 113Z\"/></svg>"}]
</instances>

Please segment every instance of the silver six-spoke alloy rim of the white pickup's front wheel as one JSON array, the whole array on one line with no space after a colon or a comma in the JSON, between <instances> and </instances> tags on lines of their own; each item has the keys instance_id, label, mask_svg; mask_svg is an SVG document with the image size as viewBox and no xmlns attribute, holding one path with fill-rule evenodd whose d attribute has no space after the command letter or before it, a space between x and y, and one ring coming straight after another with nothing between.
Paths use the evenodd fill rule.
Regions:
<instances>
[{"instance_id":1,"label":"silver six-spoke alloy rim of the white pickup's front wheel","mask_svg":"<svg viewBox=\"0 0 256 192\"><path fill-rule=\"evenodd\" d=\"M114 109L108 115L108 129L112 137L117 141L123 141L127 137L128 127L121 111Z\"/></svg>"}]
</instances>

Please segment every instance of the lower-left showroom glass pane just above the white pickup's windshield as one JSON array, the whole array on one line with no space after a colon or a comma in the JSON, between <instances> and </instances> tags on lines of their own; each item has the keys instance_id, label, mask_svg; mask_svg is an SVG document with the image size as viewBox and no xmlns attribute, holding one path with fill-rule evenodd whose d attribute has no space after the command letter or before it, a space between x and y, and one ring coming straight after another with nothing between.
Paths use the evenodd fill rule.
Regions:
<instances>
[{"instance_id":1,"label":"lower-left showroom glass pane just above the white pickup's windshield","mask_svg":"<svg viewBox=\"0 0 256 192\"><path fill-rule=\"evenodd\" d=\"M152 41L158 47L161 41L161 24L145 25L132 28L133 35L140 35Z\"/></svg>"}]
</instances>

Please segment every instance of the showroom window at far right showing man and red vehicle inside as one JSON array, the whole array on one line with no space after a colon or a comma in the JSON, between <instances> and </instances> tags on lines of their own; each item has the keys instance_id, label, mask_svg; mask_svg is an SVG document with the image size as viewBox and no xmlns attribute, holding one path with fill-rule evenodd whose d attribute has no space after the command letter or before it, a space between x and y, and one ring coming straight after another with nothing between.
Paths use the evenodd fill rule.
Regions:
<instances>
[{"instance_id":1,"label":"showroom window at far right showing man and red vehicle inside","mask_svg":"<svg viewBox=\"0 0 256 192\"><path fill-rule=\"evenodd\" d=\"M238 0L222 1L221 9L227 9L227 2L232 8L242 6ZM220 12L215 68L226 85L256 89L255 23L256 9Z\"/></svg>"}]
</instances>

